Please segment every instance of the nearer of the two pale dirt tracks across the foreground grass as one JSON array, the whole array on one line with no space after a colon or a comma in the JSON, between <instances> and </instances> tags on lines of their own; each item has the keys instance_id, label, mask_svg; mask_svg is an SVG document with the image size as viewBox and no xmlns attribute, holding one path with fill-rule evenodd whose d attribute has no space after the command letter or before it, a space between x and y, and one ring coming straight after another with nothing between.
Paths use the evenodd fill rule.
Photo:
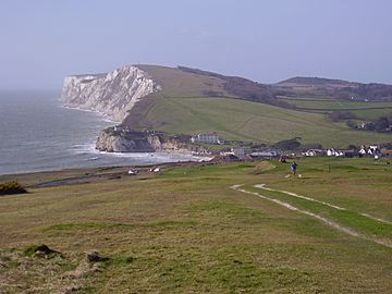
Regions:
<instances>
[{"instance_id":1,"label":"nearer of the two pale dirt tracks across the foreground grass","mask_svg":"<svg viewBox=\"0 0 392 294\"><path fill-rule=\"evenodd\" d=\"M278 204L278 205L282 206L282 207L285 207L285 208L287 208L287 209L290 209L290 210L293 210L293 211L296 211L296 212L299 212L299 213L303 213L303 215L313 217L313 218L315 218L315 219L317 219L317 220L319 220L319 221L321 221L321 222L323 222L323 223L326 223L326 224L328 224L328 225L330 225L330 226L336 229L338 231L343 232L343 233L345 233L345 234L347 234L347 235L355 236L355 237L360 237L360 238L363 238L363 240L371 241L371 242L373 242L373 243L377 243L377 244L380 244L380 245L384 245L384 246L387 246L387 247L392 248L392 244L391 244L390 242L388 242L388 241L382 241L382 240L377 240L377 238L371 238L371 237L365 236L365 235L359 234L358 232L356 232L356 231L354 231L354 230L352 230L352 229L350 229L350 228L342 226L342 225L340 225L339 223L336 223L336 222L334 222L334 221L331 221L331 220L329 220L329 219L327 219L327 218L324 218L324 217L321 217L321 216L319 216L319 215L313 213L313 212L307 211L307 210L298 209L297 207L295 207L295 206L293 206L293 205L291 205L291 204L284 203L284 201L279 200L279 199L274 199L274 198L270 198L270 197L264 196L264 195L261 195L261 194L259 194L259 193L257 193L257 192L246 191L246 189L244 189L244 188L241 188L242 186L243 186L242 184L241 184L241 185L232 185L232 186L230 186L230 188L232 188L232 189L234 189L234 191L242 192L242 193L246 193L246 194L250 194L250 195L257 196L257 197L259 197L259 198L262 198L262 199L272 201L272 203L274 203L274 204ZM260 187L260 185L255 185L255 186ZM264 187L264 185L261 185L261 186ZM268 188L266 188L266 189L268 189ZM292 195L292 196L293 196L293 195ZM297 197L297 196L299 196L299 195L296 195L296 196L294 196L294 197ZM305 197L305 196L302 196L302 197L299 197L299 198L303 198L303 197ZM306 199L306 198L308 198L308 197L305 197L304 199ZM308 200L311 200L311 198L308 198ZM313 200L315 200L315 199L313 199ZM315 201L318 203L318 200L315 200ZM330 207L333 207L333 206L330 206ZM342 208L336 208L336 209L342 209Z\"/></svg>"}]
</instances>

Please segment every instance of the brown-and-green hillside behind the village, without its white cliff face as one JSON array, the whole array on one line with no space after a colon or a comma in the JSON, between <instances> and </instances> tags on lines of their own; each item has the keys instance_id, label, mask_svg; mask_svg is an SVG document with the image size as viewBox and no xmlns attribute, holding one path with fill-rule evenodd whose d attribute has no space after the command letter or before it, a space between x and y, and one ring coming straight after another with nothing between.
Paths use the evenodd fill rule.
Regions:
<instances>
[{"instance_id":1,"label":"brown-and-green hillside behind the village, without its white cliff face","mask_svg":"<svg viewBox=\"0 0 392 294\"><path fill-rule=\"evenodd\" d=\"M333 123L327 117L331 111L351 110L359 120L377 118L388 114L392 102L289 98L278 96L274 85L242 77L183 66L137 66L157 81L161 90L130 111L123 124L132 128L171 134L215 131L224 139L264 144L301 137L302 144L319 143L324 147L392 140L389 134L358 132L344 121ZM331 81L328 85L335 84Z\"/></svg>"}]
</instances>

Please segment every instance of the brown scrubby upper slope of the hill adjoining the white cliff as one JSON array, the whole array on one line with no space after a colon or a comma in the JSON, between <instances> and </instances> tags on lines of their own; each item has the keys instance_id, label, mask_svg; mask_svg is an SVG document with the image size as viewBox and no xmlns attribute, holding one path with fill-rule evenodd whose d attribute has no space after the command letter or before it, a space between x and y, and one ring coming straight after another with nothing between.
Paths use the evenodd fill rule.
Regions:
<instances>
[{"instance_id":1,"label":"brown scrubby upper slope of the hill adjoining the white cliff","mask_svg":"<svg viewBox=\"0 0 392 294\"><path fill-rule=\"evenodd\" d=\"M218 73L179 66L176 69L159 65L135 65L148 73L160 85L161 90L148 95L130 110L123 122L124 125L137 128L154 128L163 124L161 120L150 118L146 121L146 113L159 102L161 98L235 98L271 106L293 108L290 103L278 99L270 85L253 82L237 76L225 76Z\"/></svg>"}]
</instances>

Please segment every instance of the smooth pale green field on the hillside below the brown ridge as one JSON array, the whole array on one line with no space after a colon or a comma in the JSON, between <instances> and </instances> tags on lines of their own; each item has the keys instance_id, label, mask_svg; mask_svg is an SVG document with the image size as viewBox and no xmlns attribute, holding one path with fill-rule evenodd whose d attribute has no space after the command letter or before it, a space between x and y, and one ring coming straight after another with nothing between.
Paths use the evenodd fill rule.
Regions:
<instances>
[{"instance_id":1,"label":"smooth pale green field on the hillside below the brown ridge","mask_svg":"<svg viewBox=\"0 0 392 294\"><path fill-rule=\"evenodd\" d=\"M332 123L324 114L293 111L230 98L164 98L148 108L139 127L169 133L195 134L216 131L224 139L273 144L302 137L303 143L326 147L390 142L391 135L357 132Z\"/></svg>"}]
</instances>

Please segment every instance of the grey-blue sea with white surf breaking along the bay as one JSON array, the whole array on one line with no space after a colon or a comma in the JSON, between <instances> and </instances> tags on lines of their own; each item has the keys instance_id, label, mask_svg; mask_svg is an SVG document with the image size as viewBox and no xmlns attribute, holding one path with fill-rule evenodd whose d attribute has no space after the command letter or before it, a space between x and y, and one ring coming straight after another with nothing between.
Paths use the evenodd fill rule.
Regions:
<instances>
[{"instance_id":1,"label":"grey-blue sea with white surf breaking along the bay","mask_svg":"<svg viewBox=\"0 0 392 294\"><path fill-rule=\"evenodd\" d=\"M199 159L98 152L99 131L115 123L99 113L64 108L59 97L56 91L0 91L0 174Z\"/></svg>"}]
</instances>

